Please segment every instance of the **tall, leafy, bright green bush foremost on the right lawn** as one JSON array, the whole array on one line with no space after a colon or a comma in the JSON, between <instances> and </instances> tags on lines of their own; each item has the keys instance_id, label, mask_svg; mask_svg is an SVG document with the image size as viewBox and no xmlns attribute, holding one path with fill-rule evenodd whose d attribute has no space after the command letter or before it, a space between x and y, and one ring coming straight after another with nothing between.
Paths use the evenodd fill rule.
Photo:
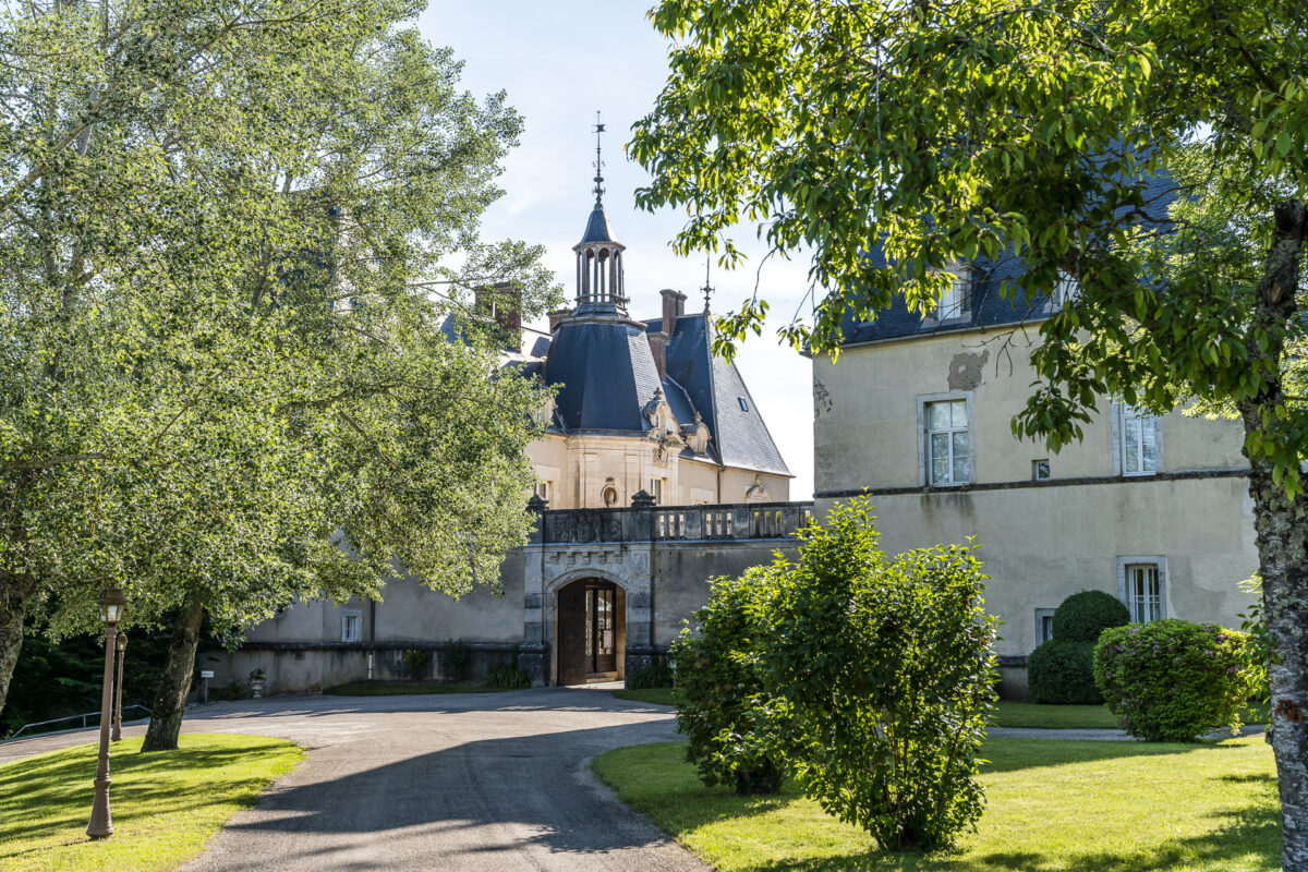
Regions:
<instances>
[{"instance_id":1,"label":"tall, leafy, bright green bush foremost on the right lawn","mask_svg":"<svg viewBox=\"0 0 1308 872\"><path fill-rule=\"evenodd\" d=\"M942 848L976 826L997 618L971 548L887 560L863 498L778 557L760 628L773 735L804 792L882 847ZM681 681L678 664L678 681Z\"/></svg>"}]
</instances>

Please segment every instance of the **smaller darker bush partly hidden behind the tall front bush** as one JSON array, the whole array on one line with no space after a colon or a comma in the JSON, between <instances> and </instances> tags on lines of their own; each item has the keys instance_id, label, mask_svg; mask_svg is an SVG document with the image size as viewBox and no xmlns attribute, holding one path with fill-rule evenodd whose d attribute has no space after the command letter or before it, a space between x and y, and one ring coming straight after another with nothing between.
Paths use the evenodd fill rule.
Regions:
<instances>
[{"instance_id":1,"label":"smaller darker bush partly hidden behind the tall front bush","mask_svg":"<svg viewBox=\"0 0 1308 872\"><path fill-rule=\"evenodd\" d=\"M756 600L765 597L764 567L740 578L710 582L708 604L672 645L676 664L676 728L684 733L685 758L708 784L730 784L738 794L781 790L785 767L756 729L755 697L763 693L757 672Z\"/></svg>"}]
</instances>

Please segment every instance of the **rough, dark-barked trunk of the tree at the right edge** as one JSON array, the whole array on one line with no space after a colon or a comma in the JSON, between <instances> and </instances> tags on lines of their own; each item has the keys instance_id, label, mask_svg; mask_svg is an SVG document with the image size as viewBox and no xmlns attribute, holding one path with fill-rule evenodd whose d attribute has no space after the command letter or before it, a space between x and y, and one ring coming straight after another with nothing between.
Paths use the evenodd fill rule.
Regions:
<instances>
[{"instance_id":1,"label":"rough, dark-barked trunk of the tree at the right edge","mask_svg":"<svg viewBox=\"0 0 1308 872\"><path fill-rule=\"evenodd\" d=\"M1249 331L1250 360L1265 365L1262 371L1267 375L1258 396L1240 404L1245 433L1266 431L1286 401L1279 375L1283 345L1273 340L1260 353L1257 339L1274 337L1277 328L1295 315L1305 235L1308 209L1300 203L1278 205ZM1284 489L1273 481L1273 464L1265 455L1249 458L1249 467L1264 621L1277 660L1269 673L1271 746L1277 756L1284 838L1282 867L1286 872L1308 872L1308 495L1287 498Z\"/></svg>"}]
</instances>

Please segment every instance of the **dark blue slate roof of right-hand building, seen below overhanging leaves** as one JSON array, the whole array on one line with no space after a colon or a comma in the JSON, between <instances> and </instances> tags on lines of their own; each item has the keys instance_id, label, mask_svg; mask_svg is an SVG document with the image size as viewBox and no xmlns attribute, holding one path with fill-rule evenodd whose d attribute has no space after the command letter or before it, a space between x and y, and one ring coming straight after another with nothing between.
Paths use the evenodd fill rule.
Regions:
<instances>
[{"instance_id":1,"label":"dark blue slate roof of right-hand building, seen below overhanging leaves","mask_svg":"<svg viewBox=\"0 0 1308 872\"><path fill-rule=\"evenodd\" d=\"M1164 174L1150 178L1143 188L1146 209L1151 214L1165 214L1176 199L1176 186ZM887 264L886 255L878 246L871 252L878 267ZM977 259L971 267L971 307L960 318L940 322L923 318L908 309L904 297L896 295L889 309L876 314L870 322L858 322L849 312L844 319L844 344L872 343L887 339L906 339L913 336L937 336L940 333L974 329L977 327L1002 327L1020 323L1040 322L1050 315L1049 299L1044 294L1029 297L1022 288L1023 261L1015 255L998 260ZM1005 299L999 286L1005 281L1015 282L1011 297Z\"/></svg>"}]
</instances>

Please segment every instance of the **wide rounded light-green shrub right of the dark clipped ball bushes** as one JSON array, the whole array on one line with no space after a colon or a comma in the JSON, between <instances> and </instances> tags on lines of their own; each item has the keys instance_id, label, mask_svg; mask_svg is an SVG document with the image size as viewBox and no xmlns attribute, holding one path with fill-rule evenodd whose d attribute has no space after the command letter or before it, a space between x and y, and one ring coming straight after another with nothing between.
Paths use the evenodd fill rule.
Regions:
<instances>
[{"instance_id":1,"label":"wide rounded light-green shrub right of the dark clipped ball bushes","mask_svg":"<svg viewBox=\"0 0 1308 872\"><path fill-rule=\"evenodd\" d=\"M1176 618L1105 630L1095 681L1122 728L1150 741L1192 741L1239 726L1249 697L1245 634Z\"/></svg>"}]
</instances>

